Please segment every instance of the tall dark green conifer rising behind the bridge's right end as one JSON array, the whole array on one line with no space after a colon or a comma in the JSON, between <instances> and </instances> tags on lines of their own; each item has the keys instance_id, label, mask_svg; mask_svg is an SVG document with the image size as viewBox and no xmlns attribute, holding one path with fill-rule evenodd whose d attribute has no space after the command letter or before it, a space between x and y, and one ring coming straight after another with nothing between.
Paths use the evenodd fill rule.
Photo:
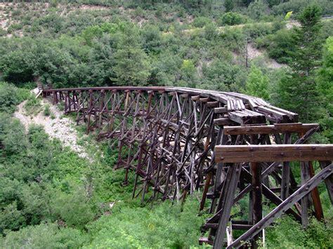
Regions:
<instances>
[{"instance_id":1,"label":"tall dark green conifer rising behind the bridge's right end","mask_svg":"<svg viewBox=\"0 0 333 249\"><path fill-rule=\"evenodd\" d=\"M297 112L303 121L311 121L317 116L315 69L320 66L322 56L320 18L317 5L307 6L299 16L301 27L294 36L296 48L290 53L292 72L282 79L279 86L281 106Z\"/></svg>"}]
</instances>

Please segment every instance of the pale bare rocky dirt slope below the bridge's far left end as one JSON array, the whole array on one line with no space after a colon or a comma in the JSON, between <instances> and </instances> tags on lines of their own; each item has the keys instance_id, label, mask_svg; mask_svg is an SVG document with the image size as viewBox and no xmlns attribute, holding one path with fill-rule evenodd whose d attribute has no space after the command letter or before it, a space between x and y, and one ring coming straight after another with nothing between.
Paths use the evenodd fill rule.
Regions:
<instances>
[{"instance_id":1,"label":"pale bare rocky dirt slope below the bridge's far left end","mask_svg":"<svg viewBox=\"0 0 333 249\"><path fill-rule=\"evenodd\" d=\"M33 91L36 93L36 89ZM42 110L44 110L45 105L50 105L50 111L51 114L53 114L54 119L51 119L51 115L44 116L43 111L39 112L37 115L30 116L24 109L26 102L27 101L24 101L18 105L18 111L14 113L15 118L20 119L26 130L33 123L44 126L46 133L50 137L60 140L63 143L63 146L70 146L80 157L89 159L89 155L85 152L84 147L78 144L79 135L73 128L75 123L72 119L63 117L63 113L60 112L57 107L51 105L46 99L41 100Z\"/></svg>"}]
</instances>

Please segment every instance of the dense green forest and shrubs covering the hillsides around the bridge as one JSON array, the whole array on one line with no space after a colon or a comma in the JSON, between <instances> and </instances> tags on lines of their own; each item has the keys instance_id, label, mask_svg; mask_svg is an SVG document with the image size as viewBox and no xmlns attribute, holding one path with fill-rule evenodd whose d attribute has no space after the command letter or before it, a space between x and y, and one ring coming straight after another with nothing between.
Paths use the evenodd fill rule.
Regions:
<instances>
[{"instance_id":1,"label":"dense green forest and shrubs covering the hillsides around the bridge","mask_svg":"<svg viewBox=\"0 0 333 249\"><path fill-rule=\"evenodd\" d=\"M320 123L312 142L332 143L332 15L330 0L1 2L0 248L200 247L195 195L184 206L143 205L131 198L133 182L121 186L107 141L78 126L82 158L43 126L25 130L13 117L21 102L31 115L53 115L30 92L37 82L247 93ZM332 247L324 186L320 195L327 222L304 231L282 217L266 229L266 246Z\"/></svg>"}]
</instances>

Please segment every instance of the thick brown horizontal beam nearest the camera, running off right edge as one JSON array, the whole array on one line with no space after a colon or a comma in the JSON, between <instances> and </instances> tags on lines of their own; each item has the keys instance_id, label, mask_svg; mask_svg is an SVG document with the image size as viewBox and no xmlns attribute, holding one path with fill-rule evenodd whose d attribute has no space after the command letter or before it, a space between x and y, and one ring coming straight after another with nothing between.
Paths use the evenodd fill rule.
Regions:
<instances>
[{"instance_id":1,"label":"thick brown horizontal beam nearest the camera, running off right edge","mask_svg":"<svg viewBox=\"0 0 333 249\"><path fill-rule=\"evenodd\" d=\"M332 161L333 144L218 145L216 162Z\"/></svg>"}]
</instances>

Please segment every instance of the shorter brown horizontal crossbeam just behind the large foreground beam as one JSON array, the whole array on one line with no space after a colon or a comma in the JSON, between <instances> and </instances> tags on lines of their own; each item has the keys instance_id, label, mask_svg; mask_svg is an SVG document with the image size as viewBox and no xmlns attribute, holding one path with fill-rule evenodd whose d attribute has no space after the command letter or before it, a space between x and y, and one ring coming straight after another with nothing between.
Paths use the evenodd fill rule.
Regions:
<instances>
[{"instance_id":1,"label":"shorter brown horizontal crossbeam just behind the large foreground beam","mask_svg":"<svg viewBox=\"0 0 333 249\"><path fill-rule=\"evenodd\" d=\"M225 126L224 133L226 135L306 133L308 130L318 127L318 123L276 123L270 126Z\"/></svg>"}]
</instances>

